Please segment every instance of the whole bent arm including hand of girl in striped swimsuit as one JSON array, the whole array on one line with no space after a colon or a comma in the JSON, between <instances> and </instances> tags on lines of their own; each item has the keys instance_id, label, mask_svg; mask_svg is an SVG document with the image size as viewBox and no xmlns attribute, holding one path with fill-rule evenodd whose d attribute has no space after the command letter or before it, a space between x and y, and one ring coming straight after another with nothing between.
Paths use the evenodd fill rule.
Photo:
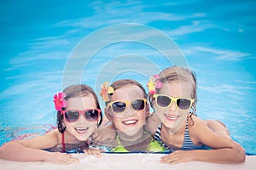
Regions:
<instances>
[{"instance_id":1,"label":"whole bent arm including hand of girl in striped swimsuit","mask_svg":"<svg viewBox=\"0 0 256 170\"><path fill-rule=\"evenodd\" d=\"M184 161L208 161L214 163L241 163L245 154L233 140L222 134L214 133L198 117L193 117L194 125L189 127L191 139L206 144L212 150L177 150L161 161L179 163Z\"/></svg>"}]
</instances>

